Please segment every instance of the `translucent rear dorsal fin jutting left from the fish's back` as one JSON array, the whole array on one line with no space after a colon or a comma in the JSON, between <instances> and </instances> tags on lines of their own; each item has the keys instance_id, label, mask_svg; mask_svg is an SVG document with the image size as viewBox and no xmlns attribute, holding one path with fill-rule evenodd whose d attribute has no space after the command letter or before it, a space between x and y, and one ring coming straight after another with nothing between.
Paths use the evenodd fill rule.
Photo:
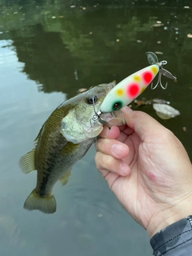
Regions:
<instances>
[{"instance_id":1,"label":"translucent rear dorsal fin jutting left from the fish's back","mask_svg":"<svg viewBox=\"0 0 192 256\"><path fill-rule=\"evenodd\" d=\"M34 166L34 152L35 149L24 154L19 160L19 167L22 169L24 174L29 174L31 171L35 170Z\"/></svg>"}]
</instances>

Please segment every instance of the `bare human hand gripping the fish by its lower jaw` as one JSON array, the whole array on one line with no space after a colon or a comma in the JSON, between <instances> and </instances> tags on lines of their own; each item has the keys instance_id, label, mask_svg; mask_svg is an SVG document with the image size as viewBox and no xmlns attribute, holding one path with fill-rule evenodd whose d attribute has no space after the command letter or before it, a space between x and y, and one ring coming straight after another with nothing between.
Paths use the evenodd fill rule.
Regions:
<instances>
[{"instance_id":1,"label":"bare human hand gripping the fish by its lower jaw","mask_svg":"<svg viewBox=\"0 0 192 256\"><path fill-rule=\"evenodd\" d=\"M95 162L119 202L152 237L192 214L192 166L182 143L148 114L122 109L125 126L104 127Z\"/></svg>"}]
</instances>

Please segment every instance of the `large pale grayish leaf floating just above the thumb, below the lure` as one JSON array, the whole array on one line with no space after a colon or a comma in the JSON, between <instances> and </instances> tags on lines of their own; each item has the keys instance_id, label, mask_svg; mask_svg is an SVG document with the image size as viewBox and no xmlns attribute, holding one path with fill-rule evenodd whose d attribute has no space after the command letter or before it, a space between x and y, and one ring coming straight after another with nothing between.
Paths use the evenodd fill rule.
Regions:
<instances>
[{"instance_id":1,"label":"large pale grayish leaf floating just above the thumb, below the lure","mask_svg":"<svg viewBox=\"0 0 192 256\"><path fill-rule=\"evenodd\" d=\"M180 114L178 110L175 110L172 106L166 104L154 103L153 107L154 110L156 110L158 117L164 120L174 118Z\"/></svg>"}]
</instances>

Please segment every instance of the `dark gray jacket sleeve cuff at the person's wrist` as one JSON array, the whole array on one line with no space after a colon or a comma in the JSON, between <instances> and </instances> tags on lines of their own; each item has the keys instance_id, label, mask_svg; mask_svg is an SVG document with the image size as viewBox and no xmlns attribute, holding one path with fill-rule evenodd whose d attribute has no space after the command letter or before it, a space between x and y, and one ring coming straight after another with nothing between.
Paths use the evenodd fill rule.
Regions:
<instances>
[{"instance_id":1,"label":"dark gray jacket sleeve cuff at the person's wrist","mask_svg":"<svg viewBox=\"0 0 192 256\"><path fill-rule=\"evenodd\" d=\"M192 215L154 234L150 245L154 256L192 255Z\"/></svg>"}]
</instances>

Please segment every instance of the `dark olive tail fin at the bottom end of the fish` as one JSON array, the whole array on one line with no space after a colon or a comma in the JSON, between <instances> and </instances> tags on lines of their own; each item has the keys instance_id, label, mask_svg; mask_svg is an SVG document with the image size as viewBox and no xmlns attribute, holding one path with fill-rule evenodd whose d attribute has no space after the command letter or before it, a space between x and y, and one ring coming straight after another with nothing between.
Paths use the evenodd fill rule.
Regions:
<instances>
[{"instance_id":1,"label":"dark olive tail fin at the bottom end of the fish","mask_svg":"<svg viewBox=\"0 0 192 256\"><path fill-rule=\"evenodd\" d=\"M45 214L54 214L56 211L56 200L53 194L40 196L34 189L23 206L26 210L40 210Z\"/></svg>"}]
</instances>

